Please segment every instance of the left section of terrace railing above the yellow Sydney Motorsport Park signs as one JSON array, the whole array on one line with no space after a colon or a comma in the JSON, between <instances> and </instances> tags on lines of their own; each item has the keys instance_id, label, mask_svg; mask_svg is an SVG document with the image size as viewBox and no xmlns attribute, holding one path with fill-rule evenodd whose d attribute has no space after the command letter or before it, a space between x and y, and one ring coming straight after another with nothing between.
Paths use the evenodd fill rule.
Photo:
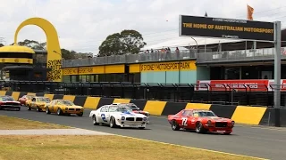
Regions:
<instances>
[{"instance_id":1,"label":"left section of terrace railing above the yellow Sydney Motorsport Park signs","mask_svg":"<svg viewBox=\"0 0 286 160\"><path fill-rule=\"evenodd\" d=\"M206 50L211 52L211 50ZM205 50L198 50L205 52ZM96 66L106 64L123 64L123 63L139 63L139 62L155 62L167 60L193 60L196 59L196 49L182 50L176 52L151 52L139 54L124 54L106 57L94 57L81 60L63 60L62 68L80 67L80 66Z\"/></svg>"}]
</instances>

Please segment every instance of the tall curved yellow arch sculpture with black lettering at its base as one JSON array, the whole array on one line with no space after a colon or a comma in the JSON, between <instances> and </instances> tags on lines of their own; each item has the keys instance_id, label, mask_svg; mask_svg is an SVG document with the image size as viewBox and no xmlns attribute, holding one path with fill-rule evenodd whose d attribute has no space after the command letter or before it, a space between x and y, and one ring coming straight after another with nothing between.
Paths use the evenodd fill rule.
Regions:
<instances>
[{"instance_id":1,"label":"tall curved yellow arch sculpture with black lettering at its base","mask_svg":"<svg viewBox=\"0 0 286 160\"><path fill-rule=\"evenodd\" d=\"M21 28L28 25L36 25L42 28L46 34L46 68L51 68L47 73L47 80L62 82L62 52L55 27L49 21L42 18L31 18L21 22L14 35L14 44L17 44L18 33Z\"/></svg>"}]
</instances>

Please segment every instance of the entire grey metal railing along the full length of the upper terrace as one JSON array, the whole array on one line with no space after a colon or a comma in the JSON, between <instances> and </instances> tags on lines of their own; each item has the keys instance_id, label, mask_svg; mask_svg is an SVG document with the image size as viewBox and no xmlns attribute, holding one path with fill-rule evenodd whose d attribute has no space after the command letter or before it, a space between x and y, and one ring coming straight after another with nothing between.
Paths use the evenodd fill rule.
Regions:
<instances>
[{"instance_id":1,"label":"entire grey metal railing along the full length of the upper terrace","mask_svg":"<svg viewBox=\"0 0 286 160\"><path fill-rule=\"evenodd\" d=\"M205 50L182 50L176 52L152 52L139 54L124 54L106 57L94 57L82 60L63 60L63 68L96 66L106 64L123 64L139 62L155 62L167 60L194 60L198 64L214 63L223 61L242 61L242 60L273 60L274 48L262 48L256 50L237 50L225 52L212 52L210 49ZM282 59L286 59L286 47L282 47Z\"/></svg>"}]
</instances>

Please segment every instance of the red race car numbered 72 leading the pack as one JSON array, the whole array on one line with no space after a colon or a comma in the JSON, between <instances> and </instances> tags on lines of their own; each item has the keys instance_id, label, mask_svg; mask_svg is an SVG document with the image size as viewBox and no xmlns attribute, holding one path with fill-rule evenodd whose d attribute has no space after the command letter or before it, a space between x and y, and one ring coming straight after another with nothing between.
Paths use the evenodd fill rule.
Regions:
<instances>
[{"instance_id":1,"label":"red race car numbered 72 leading the pack","mask_svg":"<svg viewBox=\"0 0 286 160\"><path fill-rule=\"evenodd\" d=\"M173 131L181 128L203 132L223 132L231 134L234 121L229 118L215 116L211 110L183 109L176 115L169 115L168 122L172 125Z\"/></svg>"}]
</instances>

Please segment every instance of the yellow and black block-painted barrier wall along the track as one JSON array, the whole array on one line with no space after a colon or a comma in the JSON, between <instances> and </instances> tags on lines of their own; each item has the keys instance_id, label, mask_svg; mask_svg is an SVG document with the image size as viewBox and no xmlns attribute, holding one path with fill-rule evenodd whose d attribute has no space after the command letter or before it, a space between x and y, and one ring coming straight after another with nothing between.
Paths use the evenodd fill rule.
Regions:
<instances>
[{"instance_id":1,"label":"yellow and black block-painted barrier wall along the track","mask_svg":"<svg viewBox=\"0 0 286 160\"><path fill-rule=\"evenodd\" d=\"M130 100L115 98L100 98L90 96L75 96L63 94L45 94L32 92L5 92L0 91L0 95L13 96L14 100L19 100L23 95L45 96L50 100L63 99L71 100L74 104L83 106L84 108L96 109L103 105L111 103L134 103L140 109L148 111L154 116L168 116L176 114L181 109L198 108L210 109L217 116L233 119L239 124L255 124L255 125L275 125L275 117L280 116L281 126L286 126L286 109L275 109L265 107L235 106L235 105L218 105L203 103L187 103L187 102L170 102L159 100Z\"/></svg>"}]
</instances>

